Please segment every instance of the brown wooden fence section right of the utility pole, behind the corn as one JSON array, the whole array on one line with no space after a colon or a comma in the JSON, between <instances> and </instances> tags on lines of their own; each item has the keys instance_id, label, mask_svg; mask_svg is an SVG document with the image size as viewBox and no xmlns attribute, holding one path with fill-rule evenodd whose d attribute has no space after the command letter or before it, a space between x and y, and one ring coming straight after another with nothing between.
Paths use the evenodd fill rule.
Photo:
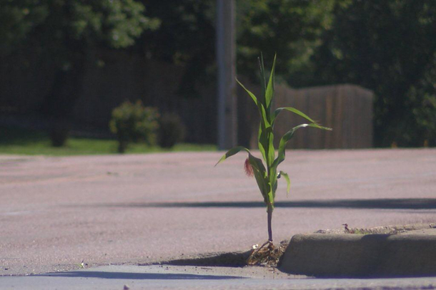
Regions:
<instances>
[{"instance_id":1,"label":"brown wooden fence section right of the utility pole, behind the corn","mask_svg":"<svg viewBox=\"0 0 436 290\"><path fill-rule=\"evenodd\" d=\"M249 86L259 94L259 87ZM320 86L294 90L277 85L274 107L294 107L309 115L321 125L333 131L306 128L295 133L289 141L289 148L327 149L327 148L367 148L372 147L372 98L370 90L354 85ZM239 98L246 98L242 90ZM251 101L251 100L250 100ZM242 106L254 107L245 100ZM241 109L240 109L241 110ZM257 147L259 117L257 111L242 108L239 118L239 132L242 143L249 139L249 147ZM244 114L244 115L243 115ZM249 122L246 123L246 122ZM278 145L279 137L290 128L307 121L293 113L283 111L277 118L274 135ZM248 132L248 133L247 133Z\"/></svg>"}]
</instances>

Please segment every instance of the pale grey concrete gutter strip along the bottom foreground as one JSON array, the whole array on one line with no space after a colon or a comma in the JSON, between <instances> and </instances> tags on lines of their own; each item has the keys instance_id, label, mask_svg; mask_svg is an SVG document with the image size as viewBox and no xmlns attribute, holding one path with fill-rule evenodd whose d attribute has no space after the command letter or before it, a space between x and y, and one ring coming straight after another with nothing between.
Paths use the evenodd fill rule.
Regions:
<instances>
[{"instance_id":1,"label":"pale grey concrete gutter strip along the bottom foreground","mask_svg":"<svg viewBox=\"0 0 436 290\"><path fill-rule=\"evenodd\" d=\"M312 279L262 267L101 266L41 274L1 276L0 289L436 289L434 278ZM126 289L127 289L126 287Z\"/></svg>"}]
</instances>

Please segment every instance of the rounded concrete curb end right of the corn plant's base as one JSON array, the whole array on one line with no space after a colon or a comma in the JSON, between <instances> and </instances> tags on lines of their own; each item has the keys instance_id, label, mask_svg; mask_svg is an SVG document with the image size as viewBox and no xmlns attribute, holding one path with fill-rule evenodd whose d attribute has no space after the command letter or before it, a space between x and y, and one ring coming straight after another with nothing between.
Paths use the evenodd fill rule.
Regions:
<instances>
[{"instance_id":1,"label":"rounded concrete curb end right of the corn plant's base","mask_svg":"<svg viewBox=\"0 0 436 290\"><path fill-rule=\"evenodd\" d=\"M307 276L436 276L436 235L297 234L279 269Z\"/></svg>"}]
</instances>

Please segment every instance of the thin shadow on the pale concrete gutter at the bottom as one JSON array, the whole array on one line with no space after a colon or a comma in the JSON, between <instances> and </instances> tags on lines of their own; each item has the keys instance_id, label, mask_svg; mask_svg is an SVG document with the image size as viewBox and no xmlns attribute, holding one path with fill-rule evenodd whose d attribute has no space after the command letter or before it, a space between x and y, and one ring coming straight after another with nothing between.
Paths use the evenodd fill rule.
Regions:
<instances>
[{"instance_id":1,"label":"thin shadow on the pale concrete gutter at the bottom","mask_svg":"<svg viewBox=\"0 0 436 290\"><path fill-rule=\"evenodd\" d=\"M239 276L215 276L200 274L174 274L174 273L129 273L106 271L70 271L63 273L49 273L36 276L69 277L69 278L101 278L101 279L130 279L130 280L222 280L244 279Z\"/></svg>"}]
</instances>

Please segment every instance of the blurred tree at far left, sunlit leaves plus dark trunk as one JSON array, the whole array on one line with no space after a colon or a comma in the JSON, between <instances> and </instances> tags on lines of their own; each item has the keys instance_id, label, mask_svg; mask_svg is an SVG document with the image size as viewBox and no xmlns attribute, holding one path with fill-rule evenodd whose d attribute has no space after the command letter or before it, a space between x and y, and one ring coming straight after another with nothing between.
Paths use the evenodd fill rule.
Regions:
<instances>
[{"instance_id":1,"label":"blurred tree at far left, sunlit leaves plus dark trunk","mask_svg":"<svg viewBox=\"0 0 436 290\"><path fill-rule=\"evenodd\" d=\"M56 120L71 117L92 48L126 48L144 30L159 26L134 0L6 0L0 11L3 57L22 48L58 68L43 104L44 113Z\"/></svg>"}]
</instances>

